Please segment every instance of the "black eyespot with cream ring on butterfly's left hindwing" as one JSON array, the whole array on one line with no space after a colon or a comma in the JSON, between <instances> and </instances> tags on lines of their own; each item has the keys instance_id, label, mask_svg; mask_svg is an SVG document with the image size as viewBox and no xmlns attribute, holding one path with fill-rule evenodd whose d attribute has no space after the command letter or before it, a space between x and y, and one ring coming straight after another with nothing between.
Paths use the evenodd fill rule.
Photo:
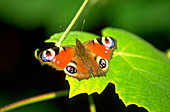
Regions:
<instances>
[{"instance_id":1,"label":"black eyespot with cream ring on butterfly's left hindwing","mask_svg":"<svg viewBox=\"0 0 170 112\"><path fill-rule=\"evenodd\" d=\"M64 72L69 76L75 76L77 74L77 66L76 64L70 62L67 67L64 68Z\"/></svg>"}]
</instances>

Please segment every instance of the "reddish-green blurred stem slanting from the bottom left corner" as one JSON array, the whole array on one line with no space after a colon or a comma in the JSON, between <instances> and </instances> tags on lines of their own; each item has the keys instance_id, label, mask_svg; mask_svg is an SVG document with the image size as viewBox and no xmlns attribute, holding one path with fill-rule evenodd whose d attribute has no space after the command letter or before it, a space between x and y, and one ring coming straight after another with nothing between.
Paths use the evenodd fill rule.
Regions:
<instances>
[{"instance_id":1,"label":"reddish-green blurred stem slanting from the bottom left corner","mask_svg":"<svg viewBox=\"0 0 170 112\"><path fill-rule=\"evenodd\" d=\"M50 92L50 93L30 97L30 98L27 98L24 100L20 100L20 101L11 103L4 107L1 107L0 112L6 112L6 111L9 111L12 109L16 109L18 107L22 107L24 105L28 105L28 104L32 104L32 103L36 103L36 102L40 102L40 101L45 101L45 100L50 100L50 99L54 99L57 97L67 96L68 93L69 93L68 90L63 90L63 91L59 91L59 92Z\"/></svg>"}]
</instances>

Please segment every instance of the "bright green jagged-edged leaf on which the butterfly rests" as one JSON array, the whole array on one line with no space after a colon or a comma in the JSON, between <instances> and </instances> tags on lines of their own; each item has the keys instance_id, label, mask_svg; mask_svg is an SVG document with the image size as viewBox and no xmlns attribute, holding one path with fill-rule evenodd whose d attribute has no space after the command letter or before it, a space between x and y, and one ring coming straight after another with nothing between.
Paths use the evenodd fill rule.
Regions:
<instances>
[{"instance_id":1,"label":"bright green jagged-edged leaf on which the butterfly rests","mask_svg":"<svg viewBox=\"0 0 170 112\"><path fill-rule=\"evenodd\" d=\"M86 32L70 33L81 42L99 37ZM46 42L57 42L61 35L55 34ZM118 47L110 60L106 77L78 81L66 75L70 84L69 97L80 93L100 94L108 83L113 83L126 106L136 104L151 112L169 112L170 59L148 42L125 30L105 28L102 35L115 38ZM75 38L68 35L61 45L75 45Z\"/></svg>"}]
</instances>

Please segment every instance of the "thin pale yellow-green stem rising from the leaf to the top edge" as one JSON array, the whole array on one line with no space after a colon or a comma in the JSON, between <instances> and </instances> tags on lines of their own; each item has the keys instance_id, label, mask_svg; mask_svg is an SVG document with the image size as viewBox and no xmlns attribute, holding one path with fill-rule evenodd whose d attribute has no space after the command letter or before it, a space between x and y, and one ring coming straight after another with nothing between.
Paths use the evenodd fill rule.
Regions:
<instances>
[{"instance_id":1,"label":"thin pale yellow-green stem rising from the leaf to the top edge","mask_svg":"<svg viewBox=\"0 0 170 112\"><path fill-rule=\"evenodd\" d=\"M74 16L73 20L71 21L71 23L69 24L69 26L67 27L67 29L65 30L65 32L63 33L63 35L61 36L59 42L57 43L57 47L60 46L61 42L63 41L63 39L65 38L65 36L67 35L67 33L69 32L69 30L72 28L72 26L74 25L75 21L77 20L77 18L79 17L79 15L81 14L81 12L83 11L84 7L86 6L88 0L85 0L82 4L82 6L80 7L79 11L77 12L77 14Z\"/></svg>"}]
</instances>

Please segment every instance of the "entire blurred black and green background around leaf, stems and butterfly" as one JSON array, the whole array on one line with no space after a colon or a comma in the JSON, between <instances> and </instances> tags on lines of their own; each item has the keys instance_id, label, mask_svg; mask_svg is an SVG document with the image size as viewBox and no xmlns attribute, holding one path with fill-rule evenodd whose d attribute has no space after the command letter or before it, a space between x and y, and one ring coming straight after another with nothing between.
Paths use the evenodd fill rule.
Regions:
<instances>
[{"instance_id":1,"label":"entire blurred black and green background around leaf, stems and butterfly","mask_svg":"<svg viewBox=\"0 0 170 112\"><path fill-rule=\"evenodd\" d=\"M0 107L35 95L69 89L65 74L41 66L36 48L50 35L67 28L83 0L0 0ZM89 0L72 30L100 35L108 26L122 28L144 38L166 52L170 47L170 1ZM146 111L135 105L125 107L113 84L94 94L97 112ZM57 98L11 112L89 111L88 96Z\"/></svg>"}]
</instances>

